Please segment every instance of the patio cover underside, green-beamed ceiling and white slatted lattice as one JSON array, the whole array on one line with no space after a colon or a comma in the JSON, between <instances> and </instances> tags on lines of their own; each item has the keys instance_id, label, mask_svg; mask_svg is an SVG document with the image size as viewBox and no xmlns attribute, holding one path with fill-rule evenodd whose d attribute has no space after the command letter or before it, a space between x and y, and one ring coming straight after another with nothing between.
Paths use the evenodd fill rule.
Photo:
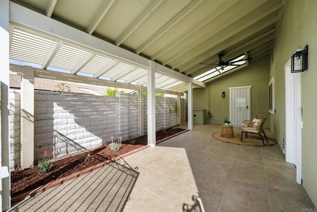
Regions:
<instances>
[{"instance_id":1,"label":"patio cover underside, green-beamed ceiling and white slatted lattice","mask_svg":"<svg viewBox=\"0 0 317 212\"><path fill-rule=\"evenodd\" d=\"M211 69L200 63L217 64L220 52L224 61L246 54L254 62L270 54L284 5L284 0L11 1L193 78ZM144 67L13 28L12 59L34 60L44 68L73 74L147 83ZM159 73L155 83L170 91L187 88L185 82Z\"/></svg>"}]
</instances>

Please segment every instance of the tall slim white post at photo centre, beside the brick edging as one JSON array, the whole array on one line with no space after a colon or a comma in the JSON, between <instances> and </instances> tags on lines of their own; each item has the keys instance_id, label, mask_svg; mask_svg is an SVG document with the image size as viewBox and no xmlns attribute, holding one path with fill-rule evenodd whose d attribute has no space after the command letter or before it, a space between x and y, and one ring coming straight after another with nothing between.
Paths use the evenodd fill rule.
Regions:
<instances>
[{"instance_id":1,"label":"tall slim white post at photo centre, beside the brick edging","mask_svg":"<svg viewBox=\"0 0 317 212\"><path fill-rule=\"evenodd\" d=\"M150 60L150 69L148 70L148 145L156 146L155 134L155 62Z\"/></svg>"}]
</instances>

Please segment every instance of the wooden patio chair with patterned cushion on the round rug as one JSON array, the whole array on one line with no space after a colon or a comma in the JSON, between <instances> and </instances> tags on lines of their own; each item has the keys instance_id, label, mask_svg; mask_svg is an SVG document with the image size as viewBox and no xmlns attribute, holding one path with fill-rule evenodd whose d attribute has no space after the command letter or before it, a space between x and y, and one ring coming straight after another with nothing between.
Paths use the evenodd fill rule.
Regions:
<instances>
[{"instance_id":1,"label":"wooden patio chair with patterned cushion on the round rug","mask_svg":"<svg viewBox=\"0 0 317 212\"><path fill-rule=\"evenodd\" d=\"M241 142L242 142L243 133L245 133L246 139L248 138L248 133L254 133L254 134L259 134L261 136L263 146L265 146L263 136L262 136L262 133L263 133L266 139L266 142L268 143L264 129L263 129L265 120L266 120L265 115L257 115L256 118L253 120L244 120L242 124Z\"/></svg>"}]
</instances>

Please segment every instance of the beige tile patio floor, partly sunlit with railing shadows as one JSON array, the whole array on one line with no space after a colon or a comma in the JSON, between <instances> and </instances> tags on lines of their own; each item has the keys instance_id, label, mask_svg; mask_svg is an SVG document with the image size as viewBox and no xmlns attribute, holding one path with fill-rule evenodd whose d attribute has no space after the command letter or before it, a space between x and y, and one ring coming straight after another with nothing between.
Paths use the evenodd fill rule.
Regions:
<instances>
[{"instance_id":1,"label":"beige tile patio floor, partly sunlit with railing shadows","mask_svg":"<svg viewBox=\"0 0 317 212\"><path fill-rule=\"evenodd\" d=\"M234 127L235 131L241 128ZM12 211L302 212L314 209L278 145L217 141L194 130L53 187ZM269 130L265 130L268 137Z\"/></svg>"}]
</instances>

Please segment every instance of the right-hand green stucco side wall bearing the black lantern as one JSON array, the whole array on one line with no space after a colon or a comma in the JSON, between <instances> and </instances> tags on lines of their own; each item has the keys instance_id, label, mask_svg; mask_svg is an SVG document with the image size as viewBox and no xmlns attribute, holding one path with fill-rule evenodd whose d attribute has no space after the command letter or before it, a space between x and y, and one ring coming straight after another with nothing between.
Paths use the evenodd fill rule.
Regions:
<instances>
[{"instance_id":1,"label":"right-hand green stucco side wall bearing the black lantern","mask_svg":"<svg viewBox=\"0 0 317 212\"><path fill-rule=\"evenodd\" d=\"M277 139L285 134L284 65L298 48L309 45L309 68L301 73L302 179L317 206L317 0L287 0L277 30L270 63L270 77L276 82L276 114L270 115L270 129ZM286 138L287 145L287 138ZM294 179L295 180L295 179Z\"/></svg>"}]
</instances>

